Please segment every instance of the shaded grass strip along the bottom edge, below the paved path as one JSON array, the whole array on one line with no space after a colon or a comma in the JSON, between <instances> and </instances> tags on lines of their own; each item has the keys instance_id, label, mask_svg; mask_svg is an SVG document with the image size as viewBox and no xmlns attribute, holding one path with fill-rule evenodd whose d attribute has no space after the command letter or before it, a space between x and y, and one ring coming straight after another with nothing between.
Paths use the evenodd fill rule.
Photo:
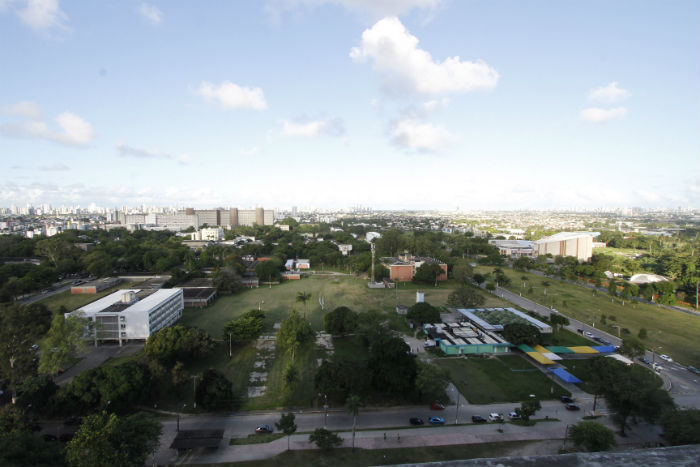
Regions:
<instances>
[{"instance_id":1,"label":"shaded grass strip along the bottom edge, below the paved path","mask_svg":"<svg viewBox=\"0 0 700 467\"><path fill-rule=\"evenodd\" d=\"M364 467L386 464L419 464L433 461L450 461L454 459L476 459L501 456L518 456L531 441L511 441L503 443L465 444L455 446L424 446L419 448L398 449L333 449L329 452L320 450L285 451L270 459L247 462L216 464L219 467L263 467L275 465L291 466L333 466ZM194 464L190 464L194 465Z\"/></svg>"}]
</instances>

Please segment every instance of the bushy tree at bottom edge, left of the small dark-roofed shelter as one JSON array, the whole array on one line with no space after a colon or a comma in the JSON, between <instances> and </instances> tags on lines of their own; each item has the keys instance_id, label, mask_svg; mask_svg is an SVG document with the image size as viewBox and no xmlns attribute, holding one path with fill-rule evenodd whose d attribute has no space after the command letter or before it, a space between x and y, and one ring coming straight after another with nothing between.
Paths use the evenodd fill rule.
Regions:
<instances>
[{"instance_id":1,"label":"bushy tree at bottom edge, left of the small dark-roofed shelter","mask_svg":"<svg viewBox=\"0 0 700 467\"><path fill-rule=\"evenodd\" d=\"M66 460L73 467L143 465L161 431L160 422L145 412L89 415L66 446Z\"/></svg>"}]
</instances>

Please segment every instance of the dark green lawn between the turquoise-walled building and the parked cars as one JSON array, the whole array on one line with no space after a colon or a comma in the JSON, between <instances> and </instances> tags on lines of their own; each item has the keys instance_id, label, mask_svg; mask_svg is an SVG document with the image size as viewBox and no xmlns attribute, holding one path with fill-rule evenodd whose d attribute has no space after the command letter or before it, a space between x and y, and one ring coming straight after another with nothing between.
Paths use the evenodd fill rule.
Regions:
<instances>
[{"instance_id":1,"label":"dark green lawn between the turquoise-walled building and the parked cars","mask_svg":"<svg viewBox=\"0 0 700 467\"><path fill-rule=\"evenodd\" d=\"M452 382L472 404L522 402L570 395L519 355L493 358L443 358L434 363L447 369Z\"/></svg>"}]
</instances>

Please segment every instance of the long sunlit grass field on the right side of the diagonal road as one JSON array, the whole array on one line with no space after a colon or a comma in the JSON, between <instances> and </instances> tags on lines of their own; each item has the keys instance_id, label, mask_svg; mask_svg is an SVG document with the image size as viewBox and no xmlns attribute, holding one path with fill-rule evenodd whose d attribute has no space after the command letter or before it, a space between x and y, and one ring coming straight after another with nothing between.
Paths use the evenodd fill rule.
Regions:
<instances>
[{"instance_id":1,"label":"long sunlit grass field on the right side of the diagonal road","mask_svg":"<svg viewBox=\"0 0 700 467\"><path fill-rule=\"evenodd\" d=\"M492 269L485 266L477 268L482 274ZM504 272L512 282L506 288L512 292L521 293L524 297L543 305L553 306L562 314L584 323L595 323L596 328L613 335L618 335L618 329L613 325L619 326L620 329L628 329L633 336L636 336L641 328L645 328L648 337L643 342L648 349L662 346L664 353L680 363L700 365L700 348L697 345L700 336L698 316L630 301L624 301L623 305L623 300L619 297L611 297L585 287L506 268ZM545 287L542 284L544 281L549 285ZM606 315L607 324L601 323L602 315ZM624 334L621 336L624 337Z\"/></svg>"}]
</instances>

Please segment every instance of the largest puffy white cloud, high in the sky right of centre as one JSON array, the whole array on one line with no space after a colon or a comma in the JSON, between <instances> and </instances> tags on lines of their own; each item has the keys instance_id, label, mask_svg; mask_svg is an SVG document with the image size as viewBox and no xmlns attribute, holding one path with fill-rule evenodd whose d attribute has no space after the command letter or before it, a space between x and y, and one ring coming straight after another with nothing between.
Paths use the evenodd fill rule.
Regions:
<instances>
[{"instance_id":1,"label":"largest puffy white cloud, high in the sky right of centre","mask_svg":"<svg viewBox=\"0 0 700 467\"><path fill-rule=\"evenodd\" d=\"M483 60L455 56L436 62L418 42L398 18L388 17L362 33L361 45L352 48L350 57L356 62L372 59L388 92L469 92L498 84L498 72Z\"/></svg>"}]
</instances>

